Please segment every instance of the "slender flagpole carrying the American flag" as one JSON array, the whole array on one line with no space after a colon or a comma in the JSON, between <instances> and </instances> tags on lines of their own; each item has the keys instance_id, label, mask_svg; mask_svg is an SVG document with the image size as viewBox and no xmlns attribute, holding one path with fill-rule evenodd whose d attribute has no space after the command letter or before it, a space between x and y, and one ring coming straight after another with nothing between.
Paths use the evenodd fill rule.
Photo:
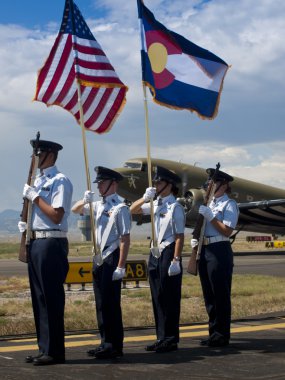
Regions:
<instances>
[{"instance_id":1,"label":"slender flagpole carrying the American flag","mask_svg":"<svg viewBox=\"0 0 285 380\"><path fill-rule=\"evenodd\" d=\"M80 126L81 126L81 132L82 132L82 143L83 143L83 152L84 152L87 190L91 191L91 180L90 180L89 163L88 163L88 151L87 151L87 144L86 144L86 132L85 132L85 127L84 127L83 107L82 107L82 102L81 102L81 89L80 89L80 84L78 81L77 81L77 94L78 94L78 105L79 105L79 113L80 113ZM94 212L93 212L92 202L89 203L89 209L90 209L90 224L91 224L91 236L92 236L92 242L93 242L93 250L94 250L94 255L96 255L97 248L96 248L96 237L95 237L95 220L94 220Z\"/></svg>"}]
</instances>

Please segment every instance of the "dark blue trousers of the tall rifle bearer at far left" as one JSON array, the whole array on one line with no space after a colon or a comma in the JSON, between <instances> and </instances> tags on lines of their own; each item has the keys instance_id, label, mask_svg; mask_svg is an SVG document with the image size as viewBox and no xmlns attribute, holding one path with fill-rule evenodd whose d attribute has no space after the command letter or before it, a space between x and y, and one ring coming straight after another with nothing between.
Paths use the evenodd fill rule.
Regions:
<instances>
[{"instance_id":1,"label":"dark blue trousers of the tall rifle bearer at far left","mask_svg":"<svg viewBox=\"0 0 285 380\"><path fill-rule=\"evenodd\" d=\"M68 272L65 238L32 240L29 280L39 351L64 359L64 281Z\"/></svg>"}]
</instances>

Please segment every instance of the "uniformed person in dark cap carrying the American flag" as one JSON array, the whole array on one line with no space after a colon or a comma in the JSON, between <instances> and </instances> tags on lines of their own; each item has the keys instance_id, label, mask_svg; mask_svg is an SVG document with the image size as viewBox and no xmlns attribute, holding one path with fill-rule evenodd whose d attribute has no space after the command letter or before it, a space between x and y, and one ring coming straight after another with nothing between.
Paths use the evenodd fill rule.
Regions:
<instances>
[{"instance_id":1,"label":"uniformed person in dark cap carrying the American flag","mask_svg":"<svg viewBox=\"0 0 285 380\"><path fill-rule=\"evenodd\" d=\"M95 167L95 171L94 182L102 200L94 202L94 193L86 191L72 211L88 215L93 202L97 244L93 287L101 344L87 353L97 359L109 359L123 356L121 284L130 246L131 214L117 195L118 182L123 179L121 174L102 166Z\"/></svg>"}]
</instances>

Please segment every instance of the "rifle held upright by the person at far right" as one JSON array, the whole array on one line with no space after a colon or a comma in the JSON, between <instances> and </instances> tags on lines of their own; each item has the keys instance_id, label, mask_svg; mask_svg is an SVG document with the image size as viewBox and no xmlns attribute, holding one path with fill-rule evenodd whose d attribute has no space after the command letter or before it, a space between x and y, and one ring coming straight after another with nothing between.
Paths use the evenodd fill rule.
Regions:
<instances>
[{"instance_id":1,"label":"rifle held upright by the person at far right","mask_svg":"<svg viewBox=\"0 0 285 380\"><path fill-rule=\"evenodd\" d=\"M217 176L220 168L220 163L218 162L216 165L216 170L208 183L206 195L205 195L205 201L204 205L208 206L215 194L216 186L215 186L215 177ZM192 253L188 262L187 272L190 274L193 274L194 276L197 276L198 274L198 261L201 254L201 249L203 245L203 238L205 234L205 225L206 221L203 215L199 214L196 225L193 231L193 239L198 240L198 245L196 247L192 248Z\"/></svg>"}]
</instances>

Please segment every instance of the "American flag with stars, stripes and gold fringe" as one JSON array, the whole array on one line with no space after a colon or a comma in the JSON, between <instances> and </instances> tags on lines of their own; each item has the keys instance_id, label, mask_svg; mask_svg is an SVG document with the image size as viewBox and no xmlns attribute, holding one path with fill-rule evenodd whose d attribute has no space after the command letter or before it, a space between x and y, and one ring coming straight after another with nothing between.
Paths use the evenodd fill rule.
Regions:
<instances>
[{"instance_id":1,"label":"American flag with stars, stripes and gold fringe","mask_svg":"<svg viewBox=\"0 0 285 380\"><path fill-rule=\"evenodd\" d=\"M128 88L76 4L66 0L60 31L38 74L34 100L63 107L80 123L78 83L85 128L108 132L125 105Z\"/></svg>"}]
</instances>

